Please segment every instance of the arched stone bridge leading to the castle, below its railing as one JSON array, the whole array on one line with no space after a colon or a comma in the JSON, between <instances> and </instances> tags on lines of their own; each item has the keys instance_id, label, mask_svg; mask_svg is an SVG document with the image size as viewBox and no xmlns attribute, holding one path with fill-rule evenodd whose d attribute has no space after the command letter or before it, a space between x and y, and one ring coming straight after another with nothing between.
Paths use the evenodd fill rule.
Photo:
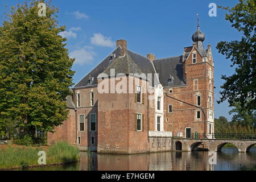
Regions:
<instances>
[{"instance_id":1,"label":"arched stone bridge leading to the castle, below its railing","mask_svg":"<svg viewBox=\"0 0 256 182\"><path fill-rule=\"evenodd\" d=\"M209 151L218 152L225 144L232 143L237 147L238 152L248 152L256 144L256 140L246 139L172 139L172 150L195 151L201 144L204 144Z\"/></svg>"}]
</instances>

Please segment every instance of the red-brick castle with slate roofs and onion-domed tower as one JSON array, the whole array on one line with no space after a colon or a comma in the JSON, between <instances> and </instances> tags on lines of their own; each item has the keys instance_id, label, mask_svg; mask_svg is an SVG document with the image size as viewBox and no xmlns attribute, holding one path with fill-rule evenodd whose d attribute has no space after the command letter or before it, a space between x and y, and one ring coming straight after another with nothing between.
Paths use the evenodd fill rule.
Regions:
<instances>
[{"instance_id":1,"label":"red-brick castle with slate roofs and onion-domed tower","mask_svg":"<svg viewBox=\"0 0 256 182\"><path fill-rule=\"evenodd\" d=\"M170 151L173 137L214 133L214 61L197 31L183 55L156 59L127 49L126 40L82 78L67 97L69 119L48 133L80 150L136 154Z\"/></svg>"}]
</instances>

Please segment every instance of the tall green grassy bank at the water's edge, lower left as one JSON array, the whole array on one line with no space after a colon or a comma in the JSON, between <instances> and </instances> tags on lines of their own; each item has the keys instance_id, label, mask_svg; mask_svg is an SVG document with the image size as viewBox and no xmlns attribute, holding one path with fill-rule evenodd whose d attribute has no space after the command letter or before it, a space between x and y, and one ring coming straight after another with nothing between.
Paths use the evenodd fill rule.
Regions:
<instances>
[{"instance_id":1,"label":"tall green grassy bank at the water's edge, lower left","mask_svg":"<svg viewBox=\"0 0 256 182\"><path fill-rule=\"evenodd\" d=\"M39 151L46 152L46 165L72 163L79 160L79 150L65 142L46 147L6 146L0 149L0 170L39 166Z\"/></svg>"}]
</instances>

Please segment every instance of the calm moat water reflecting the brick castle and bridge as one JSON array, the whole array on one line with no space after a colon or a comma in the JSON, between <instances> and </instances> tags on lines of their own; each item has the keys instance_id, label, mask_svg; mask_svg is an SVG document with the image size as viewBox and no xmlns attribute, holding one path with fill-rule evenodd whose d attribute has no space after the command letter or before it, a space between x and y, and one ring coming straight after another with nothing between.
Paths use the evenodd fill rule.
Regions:
<instances>
[{"instance_id":1,"label":"calm moat water reflecting the brick castle and bridge","mask_svg":"<svg viewBox=\"0 0 256 182\"><path fill-rule=\"evenodd\" d=\"M216 152L217 164L209 164L208 151L163 152L139 155L107 155L93 153L90 157L81 152L81 161L63 166L32 168L30 170L165 170L165 171L209 171L250 170L256 166L256 147L249 153L239 153L236 148L224 148Z\"/></svg>"}]
</instances>

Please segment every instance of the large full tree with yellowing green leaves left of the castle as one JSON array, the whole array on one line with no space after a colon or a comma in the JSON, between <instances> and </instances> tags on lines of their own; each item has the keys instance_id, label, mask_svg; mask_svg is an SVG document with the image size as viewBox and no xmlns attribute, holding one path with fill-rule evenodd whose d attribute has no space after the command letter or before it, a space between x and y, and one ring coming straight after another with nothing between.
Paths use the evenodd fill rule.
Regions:
<instances>
[{"instance_id":1,"label":"large full tree with yellowing green leaves left of the castle","mask_svg":"<svg viewBox=\"0 0 256 182\"><path fill-rule=\"evenodd\" d=\"M39 16L39 2L12 7L0 27L0 120L18 121L23 135L61 125L73 85L74 59L59 35L65 27L57 25L58 9L48 2Z\"/></svg>"}]
</instances>

